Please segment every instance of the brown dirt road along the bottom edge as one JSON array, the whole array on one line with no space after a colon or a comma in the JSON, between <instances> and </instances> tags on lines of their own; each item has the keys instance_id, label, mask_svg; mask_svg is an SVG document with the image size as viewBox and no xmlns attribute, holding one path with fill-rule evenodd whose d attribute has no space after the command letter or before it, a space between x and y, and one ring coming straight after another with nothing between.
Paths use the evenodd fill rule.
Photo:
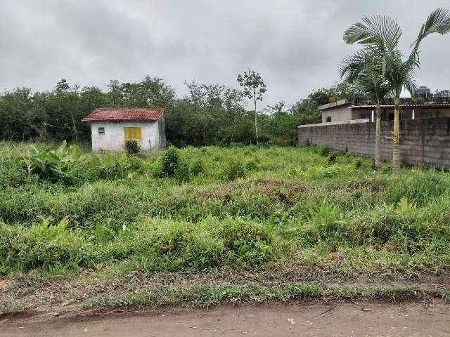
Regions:
<instances>
[{"instance_id":1,"label":"brown dirt road along the bottom edge","mask_svg":"<svg viewBox=\"0 0 450 337\"><path fill-rule=\"evenodd\" d=\"M450 303L305 303L4 320L0 336L450 336Z\"/></svg>"}]
</instances>

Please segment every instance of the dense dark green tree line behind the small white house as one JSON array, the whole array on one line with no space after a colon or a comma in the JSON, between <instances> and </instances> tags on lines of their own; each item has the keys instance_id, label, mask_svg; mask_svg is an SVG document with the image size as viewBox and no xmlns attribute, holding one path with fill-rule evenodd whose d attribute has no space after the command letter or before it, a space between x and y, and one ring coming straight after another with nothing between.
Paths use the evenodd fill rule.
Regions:
<instances>
[{"instance_id":1,"label":"dense dark green tree line behind the small white house","mask_svg":"<svg viewBox=\"0 0 450 337\"><path fill-rule=\"evenodd\" d=\"M255 126L260 142L293 145L297 125L321 121L319 105L361 95L356 86L342 82L292 105L266 105L255 114L247 109L245 90L195 81L186 86L183 98L163 79L149 76L136 83L110 81L104 91L65 79L50 91L15 88L0 94L0 139L88 142L89 124L81 119L98 107L162 107L167 141L177 146L256 143Z\"/></svg>"}]
</instances>

